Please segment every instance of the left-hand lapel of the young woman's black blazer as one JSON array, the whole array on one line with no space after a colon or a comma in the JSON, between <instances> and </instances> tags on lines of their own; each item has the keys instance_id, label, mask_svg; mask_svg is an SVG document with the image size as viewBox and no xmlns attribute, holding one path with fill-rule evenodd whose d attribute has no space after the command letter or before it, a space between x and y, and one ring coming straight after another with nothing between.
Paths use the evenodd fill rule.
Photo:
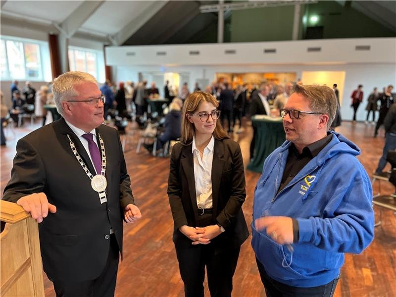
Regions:
<instances>
[{"instance_id":1,"label":"left-hand lapel of the young woman's black blazer","mask_svg":"<svg viewBox=\"0 0 396 297\"><path fill-rule=\"evenodd\" d=\"M194 209L194 216L198 219L197 212L197 197L195 192L195 175L194 175L194 159L193 159L193 145L185 146L182 150L180 163L187 179L187 184L190 192L190 199Z\"/></svg>"}]
</instances>

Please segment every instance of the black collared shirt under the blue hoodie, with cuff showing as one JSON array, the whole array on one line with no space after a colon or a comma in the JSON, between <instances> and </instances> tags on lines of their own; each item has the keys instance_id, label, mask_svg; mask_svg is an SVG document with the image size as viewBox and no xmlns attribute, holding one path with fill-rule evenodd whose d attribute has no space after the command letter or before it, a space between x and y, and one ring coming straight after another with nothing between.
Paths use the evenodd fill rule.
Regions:
<instances>
[{"instance_id":1,"label":"black collared shirt under the blue hoodie, with cuff showing","mask_svg":"<svg viewBox=\"0 0 396 297\"><path fill-rule=\"evenodd\" d=\"M327 132L326 137L310 144L309 146L306 146L302 149L301 153L298 153L297 148L292 143L292 145L289 147L289 155L286 161L285 170L283 172L282 182L278 189L278 193L294 179L298 172L300 172L301 169L304 168L304 166L308 164L311 159L317 156L318 153L327 146L332 137L333 134ZM299 239L299 227L298 221L295 218L293 218L293 235L293 241L297 243Z\"/></svg>"}]
</instances>

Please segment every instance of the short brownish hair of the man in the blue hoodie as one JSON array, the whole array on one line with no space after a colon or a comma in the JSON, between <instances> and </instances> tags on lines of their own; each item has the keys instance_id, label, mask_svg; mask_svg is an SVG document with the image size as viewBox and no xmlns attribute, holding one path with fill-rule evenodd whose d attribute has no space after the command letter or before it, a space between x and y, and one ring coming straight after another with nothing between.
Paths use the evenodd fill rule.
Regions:
<instances>
[{"instance_id":1,"label":"short brownish hair of the man in the blue hoodie","mask_svg":"<svg viewBox=\"0 0 396 297\"><path fill-rule=\"evenodd\" d=\"M307 98L313 112L327 114L329 116L327 129L330 129L337 111L337 98L334 90L327 86L297 84L294 87L294 93Z\"/></svg>"}]
</instances>

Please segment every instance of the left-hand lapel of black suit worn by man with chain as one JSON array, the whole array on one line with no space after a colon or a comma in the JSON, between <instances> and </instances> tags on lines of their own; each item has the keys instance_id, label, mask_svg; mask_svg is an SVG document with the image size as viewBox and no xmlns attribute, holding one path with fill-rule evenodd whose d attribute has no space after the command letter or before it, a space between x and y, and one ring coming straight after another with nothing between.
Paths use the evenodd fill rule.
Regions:
<instances>
[{"instance_id":1,"label":"left-hand lapel of black suit worn by man with chain","mask_svg":"<svg viewBox=\"0 0 396 297\"><path fill-rule=\"evenodd\" d=\"M67 151L70 151L70 153L73 154L73 152L72 152L72 150L70 148L70 141L67 138L67 135L70 136L70 139L74 143L74 146L77 148L77 151L80 154L81 158L83 159L84 163L87 165L87 167L91 171L91 173L93 173L93 175L95 175L94 173L96 171L95 171L95 168L92 165L90 157L87 154L87 151L83 147L83 145L80 142L80 139L77 137L77 135L75 135L74 132L70 129L70 127L66 124L65 120L63 119L63 117L60 118L60 120L56 121L56 125L54 125L54 129L58 130L59 133L60 133L59 142L64 147L67 147L66 148ZM77 160L76 160L76 162L77 162ZM78 164L78 166L81 167L80 164Z\"/></svg>"}]
</instances>

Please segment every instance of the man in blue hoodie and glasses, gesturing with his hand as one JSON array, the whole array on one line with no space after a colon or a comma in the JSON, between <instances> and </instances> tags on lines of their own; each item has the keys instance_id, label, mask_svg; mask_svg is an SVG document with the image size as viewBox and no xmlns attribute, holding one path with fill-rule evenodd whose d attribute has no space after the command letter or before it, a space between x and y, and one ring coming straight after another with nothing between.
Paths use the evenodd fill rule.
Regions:
<instances>
[{"instance_id":1,"label":"man in blue hoodie and glasses, gesturing with his hand","mask_svg":"<svg viewBox=\"0 0 396 297\"><path fill-rule=\"evenodd\" d=\"M265 160L253 203L267 297L333 296L344 253L373 240L370 179L360 149L328 131L336 109L329 87L296 85L281 110L287 141Z\"/></svg>"}]
</instances>

